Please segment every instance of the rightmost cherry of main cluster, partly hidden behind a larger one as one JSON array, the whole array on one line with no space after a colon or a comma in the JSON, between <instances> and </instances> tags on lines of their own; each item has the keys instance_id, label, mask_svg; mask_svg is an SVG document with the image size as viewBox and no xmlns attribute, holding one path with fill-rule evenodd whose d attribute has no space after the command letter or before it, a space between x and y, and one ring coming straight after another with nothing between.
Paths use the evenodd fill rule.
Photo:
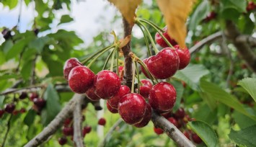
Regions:
<instances>
[{"instance_id":1,"label":"rightmost cherry of main cluster, partly hidden behind a larger one","mask_svg":"<svg viewBox=\"0 0 256 147\"><path fill-rule=\"evenodd\" d=\"M187 48L180 48L180 45L175 45L175 49L180 58L179 69L183 69L190 63L190 51Z\"/></svg>"}]
</instances>

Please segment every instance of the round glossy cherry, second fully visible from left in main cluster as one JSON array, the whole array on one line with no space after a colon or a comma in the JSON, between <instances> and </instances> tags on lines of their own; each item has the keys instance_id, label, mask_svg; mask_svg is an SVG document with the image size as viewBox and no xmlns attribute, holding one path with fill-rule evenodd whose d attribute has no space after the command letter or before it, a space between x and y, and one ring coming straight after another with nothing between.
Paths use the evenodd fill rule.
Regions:
<instances>
[{"instance_id":1,"label":"round glossy cherry, second fully visible from left in main cluster","mask_svg":"<svg viewBox=\"0 0 256 147\"><path fill-rule=\"evenodd\" d=\"M110 99L110 97L118 93L120 86L120 78L112 71L100 71L94 77L94 92L102 99Z\"/></svg>"}]
</instances>

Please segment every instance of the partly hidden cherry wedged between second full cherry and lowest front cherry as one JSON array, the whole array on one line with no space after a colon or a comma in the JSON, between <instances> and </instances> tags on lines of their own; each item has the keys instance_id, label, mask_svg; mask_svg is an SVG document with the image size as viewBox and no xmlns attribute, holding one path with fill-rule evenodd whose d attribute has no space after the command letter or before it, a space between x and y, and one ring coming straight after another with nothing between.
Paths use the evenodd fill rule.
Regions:
<instances>
[{"instance_id":1,"label":"partly hidden cherry wedged between second full cherry and lowest front cherry","mask_svg":"<svg viewBox=\"0 0 256 147\"><path fill-rule=\"evenodd\" d=\"M126 94L130 94L131 90L128 86L121 85L118 93L116 93L113 97L110 99L107 99L108 104L114 109L118 109L118 102L121 97L123 97Z\"/></svg>"}]
</instances>

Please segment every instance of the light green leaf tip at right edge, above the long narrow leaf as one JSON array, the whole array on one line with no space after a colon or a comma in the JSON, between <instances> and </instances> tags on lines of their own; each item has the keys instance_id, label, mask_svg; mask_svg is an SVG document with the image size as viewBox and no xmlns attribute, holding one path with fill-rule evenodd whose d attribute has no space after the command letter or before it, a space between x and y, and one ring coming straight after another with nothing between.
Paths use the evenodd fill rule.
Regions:
<instances>
[{"instance_id":1,"label":"light green leaf tip at right edge, above the long narrow leaf","mask_svg":"<svg viewBox=\"0 0 256 147\"><path fill-rule=\"evenodd\" d=\"M256 102L256 79L246 78L238 82L238 85L242 86Z\"/></svg>"}]
</instances>

